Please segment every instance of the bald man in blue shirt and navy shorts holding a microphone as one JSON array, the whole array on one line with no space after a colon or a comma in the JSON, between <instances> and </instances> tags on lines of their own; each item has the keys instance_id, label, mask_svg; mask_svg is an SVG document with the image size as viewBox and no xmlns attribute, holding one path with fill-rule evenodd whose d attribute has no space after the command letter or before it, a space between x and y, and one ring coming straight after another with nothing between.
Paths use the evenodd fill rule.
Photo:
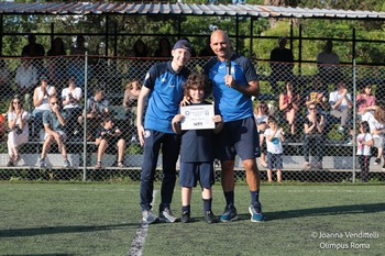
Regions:
<instances>
[{"instance_id":1,"label":"bald man in blue shirt and navy shorts holding a microphone","mask_svg":"<svg viewBox=\"0 0 385 256\"><path fill-rule=\"evenodd\" d=\"M264 219L258 199L260 171L255 160L260 154L260 143L251 100L260 92L258 78L248 58L232 53L230 38L224 31L215 31L210 42L217 57L211 58L204 70L212 84L216 113L223 119L223 129L216 141L227 202L220 220L228 222L238 219L234 207L234 159L238 154L245 168L251 193L251 221L260 222Z\"/></svg>"}]
</instances>

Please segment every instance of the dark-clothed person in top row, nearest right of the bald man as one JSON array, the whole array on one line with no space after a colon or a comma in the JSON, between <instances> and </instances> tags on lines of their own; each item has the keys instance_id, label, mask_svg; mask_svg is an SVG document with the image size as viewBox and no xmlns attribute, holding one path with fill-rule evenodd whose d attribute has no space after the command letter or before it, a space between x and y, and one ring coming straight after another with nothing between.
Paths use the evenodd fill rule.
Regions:
<instances>
[{"instance_id":1,"label":"dark-clothed person in top row, nearest right of the bald man","mask_svg":"<svg viewBox=\"0 0 385 256\"><path fill-rule=\"evenodd\" d=\"M271 69L270 84L275 96L279 94L277 81L292 81L294 56L292 49L286 48L287 38L280 36L277 41L278 46L271 52Z\"/></svg>"}]
</instances>

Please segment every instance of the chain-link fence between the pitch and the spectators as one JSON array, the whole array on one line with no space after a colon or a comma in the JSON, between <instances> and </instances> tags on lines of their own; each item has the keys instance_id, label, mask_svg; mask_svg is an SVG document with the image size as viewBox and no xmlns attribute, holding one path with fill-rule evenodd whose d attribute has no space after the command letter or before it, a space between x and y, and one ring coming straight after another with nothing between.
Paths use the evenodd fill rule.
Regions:
<instances>
[{"instance_id":1,"label":"chain-link fence between the pitch and the spectators","mask_svg":"<svg viewBox=\"0 0 385 256\"><path fill-rule=\"evenodd\" d=\"M135 127L138 85L152 65L163 60L103 56L0 59L0 179L139 180L143 157ZM207 60L194 58L188 67L201 73ZM384 67L315 64L292 67L255 62L255 68L261 86L261 94L254 99L257 129L262 138L265 115L275 116L283 127L284 180L384 179L381 134L385 125L385 110L381 108ZM40 160L47 136L42 115L50 109L46 96L53 93L57 94L61 112L67 120L63 132L69 168L64 168L68 163L64 162L63 148L55 140L44 163ZM264 105L265 110L257 108ZM114 140L98 159L95 138L106 115L113 116L123 144ZM361 121L367 121L370 129L358 143ZM367 154L362 141L370 144L372 137L372 158L356 156L358 149ZM124 148L122 159L119 147ZM264 145L262 148L266 153ZM266 180L266 162L264 157L257 159L263 180ZM361 171L361 166L369 166L369 171L365 168ZM216 167L219 178L217 162ZM237 177L243 179L239 159L235 167Z\"/></svg>"}]
</instances>

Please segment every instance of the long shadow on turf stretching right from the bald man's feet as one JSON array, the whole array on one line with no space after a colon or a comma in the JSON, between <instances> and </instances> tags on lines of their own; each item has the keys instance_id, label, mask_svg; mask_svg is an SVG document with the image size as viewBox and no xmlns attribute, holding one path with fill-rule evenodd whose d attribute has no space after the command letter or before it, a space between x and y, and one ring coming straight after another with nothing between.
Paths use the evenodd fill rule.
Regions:
<instances>
[{"instance_id":1,"label":"long shadow on turf stretching right from the bald man's feet","mask_svg":"<svg viewBox=\"0 0 385 256\"><path fill-rule=\"evenodd\" d=\"M363 214L374 212L385 212L385 203L309 208L290 211L264 212L264 214L265 221L274 221L304 216ZM250 214L239 214L239 218L241 220L250 219Z\"/></svg>"}]
</instances>

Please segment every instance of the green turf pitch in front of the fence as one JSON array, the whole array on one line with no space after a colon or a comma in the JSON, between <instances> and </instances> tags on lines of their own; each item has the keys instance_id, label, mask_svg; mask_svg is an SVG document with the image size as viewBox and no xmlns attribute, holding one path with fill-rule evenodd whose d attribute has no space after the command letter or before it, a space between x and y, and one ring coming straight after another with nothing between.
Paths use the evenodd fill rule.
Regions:
<instances>
[{"instance_id":1,"label":"green turf pitch in front of the fence","mask_svg":"<svg viewBox=\"0 0 385 256\"><path fill-rule=\"evenodd\" d=\"M136 233L151 256L385 255L384 186L263 185L263 223L249 220L248 187L235 194L239 221L207 224L196 189L194 222L139 229L138 183L3 182L0 255L128 255ZM158 202L157 191L155 209ZM217 185L218 215L223 203ZM179 188L173 209L180 214Z\"/></svg>"}]
</instances>

